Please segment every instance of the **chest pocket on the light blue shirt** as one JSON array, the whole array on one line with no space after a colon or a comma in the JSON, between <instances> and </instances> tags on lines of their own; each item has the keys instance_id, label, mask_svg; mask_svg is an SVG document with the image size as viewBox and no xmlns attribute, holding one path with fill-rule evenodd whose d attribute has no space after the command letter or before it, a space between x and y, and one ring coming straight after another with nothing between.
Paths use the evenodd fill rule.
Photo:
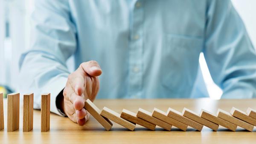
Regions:
<instances>
[{"instance_id":1,"label":"chest pocket on the light blue shirt","mask_svg":"<svg viewBox=\"0 0 256 144\"><path fill-rule=\"evenodd\" d=\"M165 35L161 52L161 82L170 94L188 97L198 71L203 39L183 35Z\"/></svg>"}]
</instances>

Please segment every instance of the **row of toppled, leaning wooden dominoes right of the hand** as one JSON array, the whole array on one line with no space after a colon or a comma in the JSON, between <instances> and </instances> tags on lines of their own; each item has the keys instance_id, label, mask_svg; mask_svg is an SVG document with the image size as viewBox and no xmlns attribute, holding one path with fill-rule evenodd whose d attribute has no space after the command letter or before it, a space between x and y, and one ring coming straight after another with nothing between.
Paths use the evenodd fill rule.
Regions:
<instances>
[{"instance_id":1,"label":"row of toppled, leaning wooden dominoes right of the hand","mask_svg":"<svg viewBox=\"0 0 256 144\"><path fill-rule=\"evenodd\" d=\"M106 130L110 130L113 126L111 121L131 131L135 129L136 124L146 127L149 130L155 130L155 127L159 126L168 131L171 130L172 126L183 131L186 131L188 126L198 131L201 131L204 126L217 131L219 125L221 125L232 131L236 131L237 126L239 126L252 132L254 126L256 126L256 111L251 108L248 108L247 112L243 112L235 107L231 109L231 112L218 109L217 115L207 112L204 109L201 110L199 115L187 108L184 108L182 113L172 108L169 108L167 112L163 112L157 108L154 108L153 112L148 112L140 108L137 114L123 109L122 113L119 114L107 107L100 110L89 99L85 101L84 108Z\"/></svg>"}]
</instances>

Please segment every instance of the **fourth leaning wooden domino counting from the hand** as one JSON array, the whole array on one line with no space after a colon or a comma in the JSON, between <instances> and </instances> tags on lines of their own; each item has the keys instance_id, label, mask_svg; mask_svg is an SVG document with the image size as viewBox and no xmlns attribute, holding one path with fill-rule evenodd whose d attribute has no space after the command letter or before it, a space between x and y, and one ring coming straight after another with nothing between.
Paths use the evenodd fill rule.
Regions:
<instances>
[{"instance_id":1,"label":"fourth leaning wooden domino counting from the hand","mask_svg":"<svg viewBox=\"0 0 256 144\"><path fill-rule=\"evenodd\" d=\"M144 119L145 121L148 121L148 122L151 122L152 124L155 124L159 127L162 127L164 128L165 130L171 130L172 129L172 125L171 124L168 124L160 119L157 119L157 118L154 118L151 114L151 112L148 112L144 109L139 109L138 112L137 112L137 117L138 118L142 118Z\"/></svg>"}]
</instances>

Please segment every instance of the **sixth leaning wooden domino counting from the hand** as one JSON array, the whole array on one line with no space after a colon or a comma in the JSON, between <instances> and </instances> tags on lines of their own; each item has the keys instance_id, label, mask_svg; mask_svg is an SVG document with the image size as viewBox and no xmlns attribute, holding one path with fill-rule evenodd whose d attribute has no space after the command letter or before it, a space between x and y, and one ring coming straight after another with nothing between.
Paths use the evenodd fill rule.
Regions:
<instances>
[{"instance_id":1,"label":"sixth leaning wooden domino counting from the hand","mask_svg":"<svg viewBox=\"0 0 256 144\"><path fill-rule=\"evenodd\" d=\"M190 127L193 127L193 128L195 128L196 130L199 130L199 131L201 131L204 127L202 124L199 124L195 121L192 121L189 118L184 117L181 112L178 112L177 110L172 109L172 108L169 108L167 110L167 116L169 116L170 118L173 118L177 121L180 121L183 124L186 124Z\"/></svg>"}]
</instances>

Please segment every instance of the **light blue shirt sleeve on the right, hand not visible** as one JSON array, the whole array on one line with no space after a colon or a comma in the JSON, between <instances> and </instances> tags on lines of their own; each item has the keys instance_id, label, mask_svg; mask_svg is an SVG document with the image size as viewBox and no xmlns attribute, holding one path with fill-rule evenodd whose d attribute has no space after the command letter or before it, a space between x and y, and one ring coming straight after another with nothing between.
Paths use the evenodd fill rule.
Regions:
<instances>
[{"instance_id":1,"label":"light blue shirt sleeve on the right, hand not visible","mask_svg":"<svg viewBox=\"0 0 256 144\"><path fill-rule=\"evenodd\" d=\"M204 56L221 98L256 97L256 52L230 0L209 0Z\"/></svg>"}]
</instances>

